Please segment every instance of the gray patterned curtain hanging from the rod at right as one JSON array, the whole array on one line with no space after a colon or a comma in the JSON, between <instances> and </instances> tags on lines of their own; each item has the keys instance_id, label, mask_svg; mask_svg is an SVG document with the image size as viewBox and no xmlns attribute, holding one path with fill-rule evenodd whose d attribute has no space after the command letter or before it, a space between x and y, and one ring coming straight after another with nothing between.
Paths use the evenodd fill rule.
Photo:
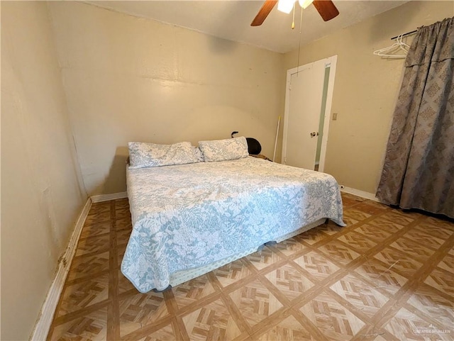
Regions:
<instances>
[{"instance_id":1,"label":"gray patterned curtain hanging from the rod at right","mask_svg":"<svg viewBox=\"0 0 454 341\"><path fill-rule=\"evenodd\" d=\"M377 198L454 218L454 18L411 44Z\"/></svg>"}]
</instances>

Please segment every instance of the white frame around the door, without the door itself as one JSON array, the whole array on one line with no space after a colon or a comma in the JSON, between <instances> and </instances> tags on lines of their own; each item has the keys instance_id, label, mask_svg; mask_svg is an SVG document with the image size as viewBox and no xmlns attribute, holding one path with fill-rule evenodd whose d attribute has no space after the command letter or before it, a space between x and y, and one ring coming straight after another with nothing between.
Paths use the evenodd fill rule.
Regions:
<instances>
[{"instance_id":1,"label":"white frame around the door, without the door itself","mask_svg":"<svg viewBox=\"0 0 454 341\"><path fill-rule=\"evenodd\" d=\"M336 64L337 64L338 56L333 55L328 58L324 58L322 60L316 60L315 62L311 62L305 65L301 65L299 67L294 67L293 69L287 70L287 82L285 86L285 108L284 108L284 134L282 136L282 155L281 155L281 163L286 163L286 156L287 156L287 132L288 132L288 122L287 119L289 117L289 101L290 101L290 81L292 79L292 74L297 74L299 71L307 69L311 67L316 62L324 62L325 69L326 67L330 67L329 78L328 78L328 91L326 94L326 106L325 106L325 118L323 120L323 135L321 138L321 150L320 150L320 162L319 162L319 172L323 172L325 167L325 160L326 160L326 145L328 145L328 132L329 132L329 123L331 121L331 104L333 102L333 90L334 90L334 81L336 79ZM321 104L320 104L321 106ZM314 160L315 162L315 160Z\"/></svg>"}]
</instances>

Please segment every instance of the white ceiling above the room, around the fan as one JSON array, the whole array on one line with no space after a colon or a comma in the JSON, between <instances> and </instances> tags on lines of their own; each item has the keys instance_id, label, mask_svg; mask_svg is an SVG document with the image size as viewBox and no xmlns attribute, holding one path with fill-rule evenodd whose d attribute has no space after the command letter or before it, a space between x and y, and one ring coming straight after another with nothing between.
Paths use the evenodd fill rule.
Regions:
<instances>
[{"instance_id":1,"label":"white ceiling above the room, around the fan","mask_svg":"<svg viewBox=\"0 0 454 341\"><path fill-rule=\"evenodd\" d=\"M408 1L408 0L407 0ZM331 21L323 21L314 6L303 12L301 45L322 38L336 30L358 23L407 1L333 0L340 14ZM300 9L295 14L296 28L290 28L292 14L271 11L262 26L251 27L263 1L85 1L143 18L153 18L197 30L219 38L264 47L275 52L289 52L299 45Z\"/></svg>"}]
</instances>

